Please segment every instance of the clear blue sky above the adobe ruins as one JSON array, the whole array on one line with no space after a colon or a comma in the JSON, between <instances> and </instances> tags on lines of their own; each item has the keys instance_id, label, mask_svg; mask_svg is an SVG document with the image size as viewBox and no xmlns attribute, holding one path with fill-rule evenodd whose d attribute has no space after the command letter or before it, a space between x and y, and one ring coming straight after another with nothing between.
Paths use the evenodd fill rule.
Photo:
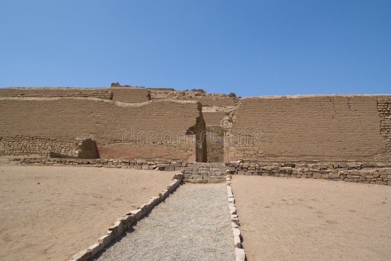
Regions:
<instances>
[{"instance_id":1,"label":"clear blue sky above the adobe ruins","mask_svg":"<svg viewBox=\"0 0 391 261\"><path fill-rule=\"evenodd\" d=\"M391 93L391 0L0 0L0 87Z\"/></svg>"}]
</instances>

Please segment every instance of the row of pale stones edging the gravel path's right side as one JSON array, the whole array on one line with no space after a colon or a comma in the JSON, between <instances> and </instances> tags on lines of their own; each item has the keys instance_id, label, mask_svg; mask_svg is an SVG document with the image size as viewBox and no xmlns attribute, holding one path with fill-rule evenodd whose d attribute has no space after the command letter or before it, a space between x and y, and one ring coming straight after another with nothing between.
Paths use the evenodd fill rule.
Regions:
<instances>
[{"instance_id":1,"label":"row of pale stones edging the gravel path's right side","mask_svg":"<svg viewBox=\"0 0 391 261\"><path fill-rule=\"evenodd\" d=\"M228 193L228 207L231 214L231 225L234 233L234 244L235 244L235 260L245 261L246 255L244 253L243 245L241 243L241 234L239 229L238 212L236 210L234 194L232 193L231 187L231 175L227 175L227 193Z\"/></svg>"}]
</instances>

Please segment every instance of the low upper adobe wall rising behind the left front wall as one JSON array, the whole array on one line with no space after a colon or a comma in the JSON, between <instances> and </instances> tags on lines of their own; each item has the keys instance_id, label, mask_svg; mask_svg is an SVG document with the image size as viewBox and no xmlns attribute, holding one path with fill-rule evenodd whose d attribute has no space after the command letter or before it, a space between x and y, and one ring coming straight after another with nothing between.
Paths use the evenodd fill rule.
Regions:
<instances>
[{"instance_id":1,"label":"low upper adobe wall rising behind the left front wall","mask_svg":"<svg viewBox=\"0 0 391 261\"><path fill-rule=\"evenodd\" d=\"M149 91L136 87L74 88L74 87L10 87L0 88L0 97L95 97L123 102L146 102Z\"/></svg>"}]
</instances>

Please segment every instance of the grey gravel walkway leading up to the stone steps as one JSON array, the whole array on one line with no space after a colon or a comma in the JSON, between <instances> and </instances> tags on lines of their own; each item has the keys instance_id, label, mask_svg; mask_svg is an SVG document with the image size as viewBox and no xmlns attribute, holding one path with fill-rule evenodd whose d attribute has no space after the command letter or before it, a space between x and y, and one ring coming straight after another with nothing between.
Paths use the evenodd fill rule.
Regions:
<instances>
[{"instance_id":1,"label":"grey gravel walkway leading up to the stone steps","mask_svg":"<svg viewBox=\"0 0 391 261\"><path fill-rule=\"evenodd\" d=\"M180 186L131 230L93 260L235 259L227 189L223 184Z\"/></svg>"}]
</instances>

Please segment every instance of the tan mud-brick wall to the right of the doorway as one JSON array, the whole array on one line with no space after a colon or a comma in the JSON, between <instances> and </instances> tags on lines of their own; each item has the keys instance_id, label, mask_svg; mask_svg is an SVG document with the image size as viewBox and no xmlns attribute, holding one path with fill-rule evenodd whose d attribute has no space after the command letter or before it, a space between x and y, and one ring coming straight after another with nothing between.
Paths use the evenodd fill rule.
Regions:
<instances>
[{"instance_id":1,"label":"tan mud-brick wall to the right of the doorway","mask_svg":"<svg viewBox=\"0 0 391 261\"><path fill-rule=\"evenodd\" d=\"M242 98L225 160L389 160L391 95Z\"/></svg>"}]
</instances>

